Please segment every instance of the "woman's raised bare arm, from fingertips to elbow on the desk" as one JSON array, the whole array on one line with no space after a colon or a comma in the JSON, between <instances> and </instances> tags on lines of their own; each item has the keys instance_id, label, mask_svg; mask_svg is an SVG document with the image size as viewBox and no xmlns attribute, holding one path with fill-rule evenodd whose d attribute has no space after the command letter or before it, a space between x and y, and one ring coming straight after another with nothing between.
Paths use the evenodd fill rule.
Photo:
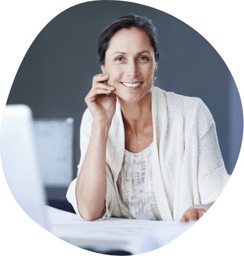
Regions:
<instances>
[{"instance_id":1,"label":"woman's raised bare arm, from fingertips to elbow on the desk","mask_svg":"<svg viewBox=\"0 0 244 256\"><path fill-rule=\"evenodd\" d=\"M108 131L116 108L116 95L104 81L108 75L98 74L85 101L93 116L93 125L86 156L76 183L77 206L87 221L98 219L105 207L106 145ZM109 94L109 96L107 96Z\"/></svg>"}]
</instances>

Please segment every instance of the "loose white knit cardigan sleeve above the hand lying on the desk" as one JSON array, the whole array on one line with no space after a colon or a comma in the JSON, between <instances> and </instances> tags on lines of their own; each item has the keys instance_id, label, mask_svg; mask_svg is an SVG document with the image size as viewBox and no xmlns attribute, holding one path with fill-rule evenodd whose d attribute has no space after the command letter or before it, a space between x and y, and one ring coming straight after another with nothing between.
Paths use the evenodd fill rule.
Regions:
<instances>
[{"instance_id":1,"label":"loose white knit cardigan sleeve above the hand lying on the desk","mask_svg":"<svg viewBox=\"0 0 244 256\"><path fill-rule=\"evenodd\" d=\"M198 189L202 204L215 201L229 181L219 148L216 126L207 106L199 99Z\"/></svg>"}]
</instances>

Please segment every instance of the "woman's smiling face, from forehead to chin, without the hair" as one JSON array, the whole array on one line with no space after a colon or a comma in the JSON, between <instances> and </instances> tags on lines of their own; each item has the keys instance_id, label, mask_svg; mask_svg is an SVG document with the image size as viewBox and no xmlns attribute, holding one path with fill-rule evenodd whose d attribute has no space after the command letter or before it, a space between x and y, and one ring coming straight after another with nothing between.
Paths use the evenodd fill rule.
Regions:
<instances>
[{"instance_id":1,"label":"woman's smiling face, from forehead to chin, without the hair","mask_svg":"<svg viewBox=\"0 0 244 256\"><path fill-rule=\"evenodd\" d=\"M101 66L109 86L126 102L138 102L149 93L157 69L155 53L145 32L131 27L111 37ZM133 85L133 87L131 86Z\"/></svg>"}]
</instances>

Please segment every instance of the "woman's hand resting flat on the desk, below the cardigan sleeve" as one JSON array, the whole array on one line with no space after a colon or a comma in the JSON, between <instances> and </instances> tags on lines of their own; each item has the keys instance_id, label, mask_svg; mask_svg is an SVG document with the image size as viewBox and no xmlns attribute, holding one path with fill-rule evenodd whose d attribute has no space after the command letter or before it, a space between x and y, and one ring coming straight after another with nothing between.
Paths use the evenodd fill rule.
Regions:
<instances>
[{"instance_id":1,"label":"woman's hand resting flat on the desk, below the cardigan sleeve","mask_svg":"<svg viewBox=\"0 0 244 256\"><path fill-rule=\"evenodd\" d=\"M212 206L212 204L215 201L209 203L209 204L198 204L198 205L192 205L188 210L183 214L181 218L182 221L197 221L202 217L208 209Z\"/></svg>"}]
</instances>

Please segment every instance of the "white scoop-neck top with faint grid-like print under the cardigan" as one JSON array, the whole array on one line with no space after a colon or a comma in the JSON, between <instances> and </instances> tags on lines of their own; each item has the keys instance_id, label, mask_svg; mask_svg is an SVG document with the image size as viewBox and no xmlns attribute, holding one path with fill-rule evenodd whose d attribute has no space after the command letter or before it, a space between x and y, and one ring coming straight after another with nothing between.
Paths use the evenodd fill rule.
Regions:
<instances>
[{"instance_id":1,"label":"white scoop-neck top with faint grid-like print under the cardigan","mask_svg":"<svg viewBox=\"0 0 244 256\"><path fill-rule=\"evenodd\" d=\"M125 149L117 179L119 195L135 219L161 220L152 184L152 144L140 153Z\"/></svg>"}]
</instances>

